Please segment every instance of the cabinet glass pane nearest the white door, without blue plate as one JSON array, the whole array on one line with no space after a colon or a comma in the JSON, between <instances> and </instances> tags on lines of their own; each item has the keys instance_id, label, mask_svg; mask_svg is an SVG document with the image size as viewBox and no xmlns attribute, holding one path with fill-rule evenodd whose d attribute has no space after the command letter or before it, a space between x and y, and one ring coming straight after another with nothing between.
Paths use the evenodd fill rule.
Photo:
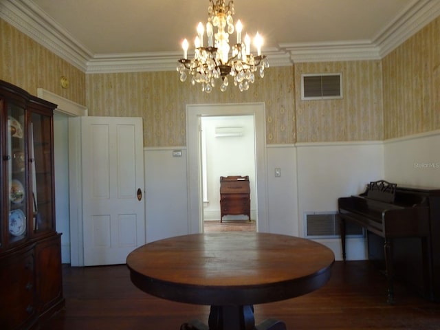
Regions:
<instances>
[{"instance_id":1,"label":"cabinet glass pane nearest the white door, without blue plate","mask_svg":"<svg viewBox=\"0 0 440 330\"><path fill-rule=\"evenodd\" d=\"M34 232L54 229L54 192L52 167L52 121L47 115L32 113L30 135L30 200Z\"/></svg>"}]
</instances>

